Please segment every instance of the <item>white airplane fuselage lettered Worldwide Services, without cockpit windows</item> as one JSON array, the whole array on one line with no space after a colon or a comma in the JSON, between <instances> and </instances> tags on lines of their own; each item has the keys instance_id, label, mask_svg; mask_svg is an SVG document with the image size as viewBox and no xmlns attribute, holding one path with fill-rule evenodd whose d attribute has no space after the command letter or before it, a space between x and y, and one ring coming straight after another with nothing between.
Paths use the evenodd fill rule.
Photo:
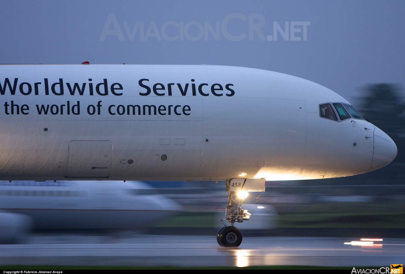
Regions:
<instances>
[{"instance_id":1,"label":"white airplane fuselage lettered Worldwide Services, without cockpit windows","mask_svg":"<svg viewBox=\"0 0 405 274\"><path fill-rule=\"evenodd\" d=\"M396 156L368 121L320 117L337 93L277 72L2 65L0 82L2 180L331 178Z\"/></svg>"}]
</instances>

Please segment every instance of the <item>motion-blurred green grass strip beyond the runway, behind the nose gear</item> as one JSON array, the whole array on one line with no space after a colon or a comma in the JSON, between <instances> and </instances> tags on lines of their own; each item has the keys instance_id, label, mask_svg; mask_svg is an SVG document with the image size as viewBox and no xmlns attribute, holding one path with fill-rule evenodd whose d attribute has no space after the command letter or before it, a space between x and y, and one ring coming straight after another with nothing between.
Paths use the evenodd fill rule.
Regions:
<instances>
[{"instance_id":1,"label":"motion-blurred green grass strip beyond the runway, behind the nose gear","mask_svg":"<svg viewBox=\"0 0 405 274\"><path fill-rule=\"evenodd\" d=\"M329 202L275 205L278 227L405 228L401 204ZM153 227L217 227L217 212L180 212Z\"/></svg>"}]
</instances>

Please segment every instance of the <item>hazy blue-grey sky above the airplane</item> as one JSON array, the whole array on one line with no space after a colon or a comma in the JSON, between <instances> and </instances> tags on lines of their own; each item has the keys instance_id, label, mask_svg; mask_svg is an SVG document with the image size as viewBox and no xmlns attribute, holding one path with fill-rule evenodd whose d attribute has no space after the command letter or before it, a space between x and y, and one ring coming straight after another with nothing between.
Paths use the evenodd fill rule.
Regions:
<instances>
[{"instance_id":1,"label":"hazy blue-grey sky above the airplane","mask_svg":"<svg viewBox=\"0 0 405 274\"><path fill-rule=\"evenodd\" d=\"M405 86L404 1L3 1L0 10L2 64L212 64L273 70L314 81L336 91L356 106L355 98L370 83ZM117 35L100 35L109 14L115 14L124 40ZM254 32L249 40L249 19L233 18L226 25L230 35L247 35L228 40L220 32L215 40L208 32L197 41L165 40L162 25L168 21L208 22L216 30L232 13L262 15L263 37L273 36L273 22L310 22L307 40L303 27L298 40L260 40ZM144 22L144 35L155 22L161 40L141 41L139 29L130 40L124 21L132 32ZM256 19L254 23L258 23ZM169 25L167 36L179 35ZM114 29L111 24L110 30ZM188 28L196 37L198 25ZM189 36L189 37L190 37ZM290 38L290 37L289 37ZM3 77L3 80L1 80ZM4 81L0 76L0 80Z\"/></svg>"}]
</instances>

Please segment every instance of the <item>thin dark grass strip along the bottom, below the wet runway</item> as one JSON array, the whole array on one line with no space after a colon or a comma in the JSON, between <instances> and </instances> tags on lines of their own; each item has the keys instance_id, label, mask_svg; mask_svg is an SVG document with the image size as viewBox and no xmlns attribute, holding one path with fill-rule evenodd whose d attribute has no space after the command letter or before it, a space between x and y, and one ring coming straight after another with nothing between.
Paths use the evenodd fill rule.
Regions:
<instances>
[{"instance_id":1,"label":"thin dark grass strip along the bottom, below the wet runway","mask_svg":"<svg viewBox=\"0 0 405 274\"><path fill-rule=\"evenodd\" d=\"M352 270L353 267L336 267L336 266L247 266L239 268L236 266L201 266L201 267L178 267L178 266L24 266L10 265L0 266L2 270L235 270L235 269L270 269L270 270ZM369 266L359 266L356 268L376 268Z\"/></svg>"}]
</instances>

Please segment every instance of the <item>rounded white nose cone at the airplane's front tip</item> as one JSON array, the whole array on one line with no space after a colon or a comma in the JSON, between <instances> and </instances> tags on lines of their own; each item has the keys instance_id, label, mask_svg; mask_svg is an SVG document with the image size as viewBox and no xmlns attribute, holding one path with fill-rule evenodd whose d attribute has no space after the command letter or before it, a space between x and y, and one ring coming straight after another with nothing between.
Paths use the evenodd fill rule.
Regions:
<instances>
[{"instance_id":1,"label":"rounded white nose cone at the airplane's front tip","mask_svg":"<svg viewBox=\"0 0 405 274\"><path fill-rule=\"evenodd\" d=\"M388 165L395 159L398 152L396 144L385 132L375 127L374 130L374 152L371 169L376 170Z\"/></svg>"}]
</instances>

